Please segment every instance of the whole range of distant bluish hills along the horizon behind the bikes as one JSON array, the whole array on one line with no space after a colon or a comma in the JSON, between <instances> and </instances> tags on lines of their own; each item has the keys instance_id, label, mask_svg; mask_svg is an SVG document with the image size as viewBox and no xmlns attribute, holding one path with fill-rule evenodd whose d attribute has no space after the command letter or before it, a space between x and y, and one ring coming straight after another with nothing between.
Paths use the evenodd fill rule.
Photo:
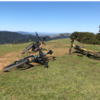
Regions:
<instances>
[{"instance_id":1,"label":"whole range of distant bluish hills along the horizon behind the bikes","mask_svg":"<svg viewBox=\"0 0 100 100\"><path fill-rule=\"evenodd\" d=\"M63 34L56 34L53 36L48 36L48 34L40 35L40 38L46 38L46 41L54 40L54 39L61 39L61 38L69 38L70 33L63 33ZM36 41L37 37L31 34L21 34L17 32L10 32L10 31L0 31L0 44L6 43L24 43L29 41Z\"/></svg>"}]
</instances>

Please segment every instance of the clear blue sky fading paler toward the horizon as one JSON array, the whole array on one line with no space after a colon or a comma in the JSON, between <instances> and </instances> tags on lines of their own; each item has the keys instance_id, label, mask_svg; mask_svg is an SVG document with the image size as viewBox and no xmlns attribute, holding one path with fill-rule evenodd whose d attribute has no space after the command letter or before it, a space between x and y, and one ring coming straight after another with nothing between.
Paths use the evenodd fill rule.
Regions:
<instances>
[{"instance_id":1,"label":"clear blue sky fading paler toward the horizon","mask_svg":"<svg viewBox=\"0 0 100 100\"><path fill-rule=\"evenodd\" d=\"M100 0L0 0L0 30L99 32Z\"/></svg>"}]
</instances>

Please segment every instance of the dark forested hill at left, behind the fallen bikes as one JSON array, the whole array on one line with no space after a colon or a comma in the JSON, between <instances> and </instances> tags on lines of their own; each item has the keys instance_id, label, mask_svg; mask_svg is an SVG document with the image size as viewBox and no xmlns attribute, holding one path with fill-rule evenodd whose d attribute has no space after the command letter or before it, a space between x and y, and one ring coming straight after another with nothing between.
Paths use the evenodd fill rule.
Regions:
<instances>
[{"instance_id":1,"label":"dark forested hill at left, behind the fallen bikes","mask_svg":"<svg viewBox=\"0 0 100 100\"><path fill-rule=\"evenodd\" d=\"M36 40L36 36L33 35L23 35L16 32L0 31L0 44L5 43L18 43L27 39Z\"/></svg>"}]
</instances>

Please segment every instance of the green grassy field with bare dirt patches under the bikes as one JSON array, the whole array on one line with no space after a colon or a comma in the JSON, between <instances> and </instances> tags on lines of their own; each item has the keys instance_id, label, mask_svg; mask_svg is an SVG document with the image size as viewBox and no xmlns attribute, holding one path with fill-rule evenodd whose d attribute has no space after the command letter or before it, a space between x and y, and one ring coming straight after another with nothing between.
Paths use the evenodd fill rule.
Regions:
<instances>
[{"instance_id":1,"label":"green grassy field with bare dirt patches under the bikes","mask_svg":"<svg viewBox=\"0 0 100 100\"><path fill-rule=\"evenodd\" d=\"M29 44L0 45L0 67L25 56L20 52ZM99 45L75 44L100 50ZM43 47L52 49L56 60L49 61L48 69L0 71L0 100L100 100L99 60L68 55L70 39L48 41Z\"/></svg>"}]
</instances>

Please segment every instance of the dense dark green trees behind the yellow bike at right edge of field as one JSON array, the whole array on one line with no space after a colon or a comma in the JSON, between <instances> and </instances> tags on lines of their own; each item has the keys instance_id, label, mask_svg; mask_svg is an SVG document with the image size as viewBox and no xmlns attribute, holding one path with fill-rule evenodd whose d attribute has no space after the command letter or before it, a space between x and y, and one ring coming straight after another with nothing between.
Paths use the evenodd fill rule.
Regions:
<instances>
[{"instance_id":1,"label":"dense dark green trees behind the yellow bike at right edge of field","mask_svg":"<svg viewBox=\"0 0 100 100\"><path fill-rule=\"evenodd\" d=\"M75 40L78 42L100 45L100 33L94 34L92 32L73 32L70 38L72 39L73 36L75 37Z\"/></svg>"}]
</instances>

